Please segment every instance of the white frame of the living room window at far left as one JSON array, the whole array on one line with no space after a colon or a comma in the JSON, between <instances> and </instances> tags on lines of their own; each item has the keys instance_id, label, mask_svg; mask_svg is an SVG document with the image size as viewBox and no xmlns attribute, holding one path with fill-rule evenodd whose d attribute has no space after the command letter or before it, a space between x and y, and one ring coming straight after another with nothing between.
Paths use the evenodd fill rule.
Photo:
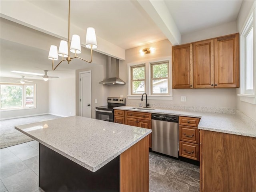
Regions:
<instances>
[{"instance_id":1,"label":"white frame of the living room window at far left","mask_svg":"<svg viewBox=\"0 0 256 192\"><path fill-rule=\"evenodd\" d=\"M10 83L10 82L1 82L1 85L13 85L13 86L22 86L22 106L21 107L15 107L15 108L1 108L0 105L0 111L12 111L12 110L26 110L26 109L35 109L36 108L36 84L30 84L30 83ZM34 86L34 106L32 107L26 107L26 86ZM0 88L0 95L1 95L1 88ZM0 101L1 102L1 101Z\"/></svg>"}]
</instances>

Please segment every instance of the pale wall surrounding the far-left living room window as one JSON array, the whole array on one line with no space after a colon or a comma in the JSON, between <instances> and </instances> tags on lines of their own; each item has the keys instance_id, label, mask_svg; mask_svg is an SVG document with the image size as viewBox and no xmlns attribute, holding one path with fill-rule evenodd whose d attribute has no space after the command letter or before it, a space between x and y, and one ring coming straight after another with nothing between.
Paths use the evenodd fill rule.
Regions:
<instances>
[{"instance_id":1,"label":"pale wall surrounding the far-left living room window","mask_svg":"<svg viewBox=\"0 0 256 192\"><path fill-rule=\"evenodd\" d=\"M0 82L12 82L10 81L10 79L20 80L20 78L0 77ZM34 79L32 81L34 84L36 84L36 108L0 111L1 119L16 118L22 116L33 116L48 113L48 82L45 82L44 80Z\"/></svg>"}]
</instances>

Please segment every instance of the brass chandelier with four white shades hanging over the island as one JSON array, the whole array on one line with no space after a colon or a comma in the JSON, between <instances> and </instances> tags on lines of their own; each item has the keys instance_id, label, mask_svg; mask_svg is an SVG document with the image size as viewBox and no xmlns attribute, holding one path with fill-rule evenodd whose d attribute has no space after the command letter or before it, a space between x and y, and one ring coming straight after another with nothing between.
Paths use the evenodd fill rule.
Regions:
<instances>
[{"instance_id":1,"label":"brass chandelier with four white shades hanging over the island","mask_svg":"<svg viewBox=\"0 0 256 192\"><path fill-rule=\"evenodd\" d=\"M69 64L70 61L74 58L81 59L88 63L92 62L92 49L97 48L96 34L95 34L94 28L92 28L92 27L87 28L85 46L86 46L86 48L91 50L91 60L90 61L76 56L76 54L81 53L80 36L73 35L71 44L70 44L70 0L69 0L68 1L68 42L61 40L60 46L59 46L59 51L58 51L57 46L55 46L55 45L50 46L48 59L52 60L52 70L55 70L62 61L67 61ZM70 52L75 54L74 57L70 57L69 50L70 50ZM58 56L61 56L62 60L58 63L58 65L56 67L54 67L54 60L58 60Z\"/></svg>"}]
</instances>

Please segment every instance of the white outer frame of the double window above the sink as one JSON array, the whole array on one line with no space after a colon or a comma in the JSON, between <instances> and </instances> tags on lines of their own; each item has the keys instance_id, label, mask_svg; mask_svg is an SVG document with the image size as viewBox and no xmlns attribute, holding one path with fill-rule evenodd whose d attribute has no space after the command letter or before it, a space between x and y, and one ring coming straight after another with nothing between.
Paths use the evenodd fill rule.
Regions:
<instances>
[{"instance_id":1,"label":"white outer frame of the double window above the sink","mask_svg":"<svg viewBox=\"0 0 256 192\"><path fill-rule=\"evenodd\" d=\"M152 94L151 90L151 63L160 63L160 62L169 62L168 65L168 73L169 73L169 93L168 94ZM128 90L128 99L141 99L142 94L131 94L132 93L132 84L131 84L131 67L133 66L140 66L142 64L145 64L145 90L146 94L148 95L148 99L152 100L173 100L172 96L172 63L171 63L171 57L165 57L165 58L156 58L156 59L150 59L150 60L143 60L140 62L131 62L127 64L127 90Z\"/></svg>"}]
</instances>

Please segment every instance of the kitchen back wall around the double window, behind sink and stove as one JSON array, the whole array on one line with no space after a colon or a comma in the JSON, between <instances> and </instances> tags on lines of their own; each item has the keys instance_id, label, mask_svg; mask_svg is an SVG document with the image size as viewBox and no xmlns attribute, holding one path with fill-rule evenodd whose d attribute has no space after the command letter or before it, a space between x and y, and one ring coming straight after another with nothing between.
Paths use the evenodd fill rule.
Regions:
<instances>
[{"instance_id":1,"label":"kitchen back wall around the double window, behind sink and stove","mask_svg":"<svg viewBox=\"0 0 256 192\"><path fill-rule=\"evenodd\" d=\"M194 40L192 40L194 41ZM141 48L154 47L154 53L141 56ZM152 44L126 50L126 60L120 61L120 78L127 82L127 63L138 62L143 60L152 60L155 58L167 57L172 55L172 44L168 40L155 42ZM110 95L124 95L127 98L127 84L107 86ZM186 102L180 102L180 96L186 96ZM129 99L127 102L138 102L139 100ZM148 100L149 104L173 104L186 106L206 106L206 107L226 107L236 108L236 89L174 89L173 100Z\"/></svg>"}]
</instances>

